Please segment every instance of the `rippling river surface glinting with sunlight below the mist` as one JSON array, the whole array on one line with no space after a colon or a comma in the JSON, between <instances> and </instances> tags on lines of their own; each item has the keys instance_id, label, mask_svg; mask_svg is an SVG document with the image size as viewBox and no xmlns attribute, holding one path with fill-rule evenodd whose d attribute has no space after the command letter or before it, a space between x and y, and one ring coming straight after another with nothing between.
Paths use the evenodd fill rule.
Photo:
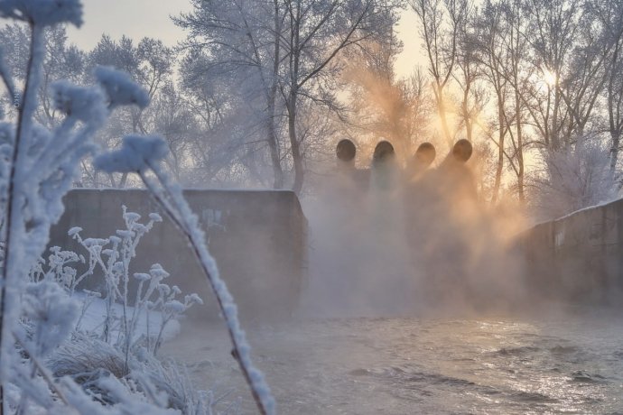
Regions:
<instances>
[{"instance_id":1,"label":"rippling river surface glinting with sunlight below the mist","mask_svg":"<svg viewBox=\"0 0 623 415\"><path fill-rule=\"evenodd\" d=\"M615 314L314 319L248 337L283 414L613 414L623 413ZM196 326L163 352L255 413L229 348L223 330Z\"/></svg>"}]
</instances>

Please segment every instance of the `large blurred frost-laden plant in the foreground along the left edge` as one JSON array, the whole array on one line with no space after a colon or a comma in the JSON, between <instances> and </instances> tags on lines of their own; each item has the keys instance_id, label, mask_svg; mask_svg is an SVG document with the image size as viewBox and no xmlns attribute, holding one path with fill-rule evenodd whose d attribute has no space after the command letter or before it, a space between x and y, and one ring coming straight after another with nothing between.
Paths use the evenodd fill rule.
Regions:
<instances>
[{"instance_id":1,"label":"large blurred frost-laden plant in the foreground along the left edge","mask_svg":"<svg viewBox=\"0 0 623 415\"><path fill-rule=\"evenodd\" d=\"M0 413L5 408L28 413L32 405L57 413L72 409L104 412L70 379L55 382L42 363L69 335L79 309L71 306L68 292L51 288L56 282L42 273L29 273L29 267L39 261L51 225L62 214L62 197L79 171L80 160L94 149L93 135L114 108L146 106L148 96L125 74L100 68L95 87L67 81L51 86L54 109L64 118L50 130L43 128L34 122L45 54L43 32L55 24L79 26L82 7L79 0L0 0L0 17L22 21L31 34L23 91L15 85L0 52L0 78L11 97L19 99L16 119L0 123L4 259L0 270ZM60 252L52 255L54 275L65 283L73 281L71 291L71 283L75 288L80 277L66 272L73 258L63 258ZM66 312L59 313L60 309ZM6 401L5 391L11 392ZM19 396L16 400L14 392Z\"/></svg>"}]
</instances>

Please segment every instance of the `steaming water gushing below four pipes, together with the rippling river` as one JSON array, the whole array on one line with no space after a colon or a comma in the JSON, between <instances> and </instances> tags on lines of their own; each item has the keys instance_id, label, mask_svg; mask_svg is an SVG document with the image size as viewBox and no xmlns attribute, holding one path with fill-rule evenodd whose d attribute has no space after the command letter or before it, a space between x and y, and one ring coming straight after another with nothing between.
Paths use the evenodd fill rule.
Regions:
<instances>
[{"instance_id":1,"label":"steaming water gushing below four pipes, together with the rippling river","mask_svg":"<svg viewBox=\"0 0 623 415\"><path fill-rule=\"evenodd\" d=\"M617 312L531 301L512 244L521 224L482 207L470 147L430 169L423 146L402 170L379 143L358 170L350 144L303 200L309 281L297 315L247 333L280 413L623 412ZM254 413L228 350L223 330L198 323L163 353Z\"/></svg>"}]
</instances>

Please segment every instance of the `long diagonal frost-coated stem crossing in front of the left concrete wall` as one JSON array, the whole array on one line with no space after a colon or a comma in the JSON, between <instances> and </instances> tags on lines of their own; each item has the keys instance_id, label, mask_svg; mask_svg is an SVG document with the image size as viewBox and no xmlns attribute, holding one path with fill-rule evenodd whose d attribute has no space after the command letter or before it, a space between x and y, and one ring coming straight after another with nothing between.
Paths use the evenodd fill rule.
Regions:
<instances>
[{"instance_id":1,"label":"long diagonal frost-coated stem crossing in front of the left concrete wall","mask_svg":"<svg viewBox=\"0 0 623 415\"><path fill-rule=\"evenodd\" d=\"M181 190L172 189L168 178L163 171L160 170L159 166L154 165L154 163L150 161L145 161L145 165L153 171L158 182L162 185L163 190L157 189L156 183L147 177L144 171L137 171L137 173L141 177L141 180L143 180L147 189L149 189L155 201L163 208L166 215L171 218L173 224L181 230L181 233L190 242L192 252L200 263L201 271L208 278L210 288L214 292L219 303L219 309L226 320L228 335L234 347L232 355L237 360L246 383L249 385L251 393L253 394L253 399L256 401L257 409L262 415L274 413L272 409L272 396L262 396L263 394L259 391L260 388L265 387L265 384L261 378L258 378L261 374L254 374L256 369L253 367L251 359L248 356L245 334L239 328L236 309L232 308L231 304L228 304L226 307L226 302L229 302L227 299L228 297L230 298L227 286L223 281L220 281L218 274L215 275L214 272L211 272L210 264L213 263L213 260L209 256L203 240L199 237L201 234L200 229L195 229L193 231L193 224L191 224L189 217L184 215L184 213L190 212L190 208L186 204L186 201L181 198ZM196 227L197 224L194 224L194 226Z\"/></svg>"}]
</instances>

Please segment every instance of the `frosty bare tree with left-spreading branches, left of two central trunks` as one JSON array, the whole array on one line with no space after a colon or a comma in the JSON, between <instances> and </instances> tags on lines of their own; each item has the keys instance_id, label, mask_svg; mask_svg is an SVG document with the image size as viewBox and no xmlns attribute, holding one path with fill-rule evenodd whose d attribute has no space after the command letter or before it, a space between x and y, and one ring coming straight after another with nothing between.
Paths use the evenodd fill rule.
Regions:
<instances>
[{"instance_id":1,"label":"frosty bare tree with left-spreading branches, left of two central trunks","mask_svg":"<svg viewBox=\"0 0 623 415\"><path fill-rule=\"evenodd\" d=\"M189 56L203 54L204 65L193 65L190 78L221 78L239 89L243 105L253 108L249 131L264 130L274 188L284 186L277 118L279 116L279 70L283 57L285 10L280 0L202 2L192 0L194 10L174 22L188 30L181 49ZM234 94L234 91L231 91ZM249 108L241 109L249 115ZM255 138L250 137L251 141Z\"/></svg>"}]
</instances>

